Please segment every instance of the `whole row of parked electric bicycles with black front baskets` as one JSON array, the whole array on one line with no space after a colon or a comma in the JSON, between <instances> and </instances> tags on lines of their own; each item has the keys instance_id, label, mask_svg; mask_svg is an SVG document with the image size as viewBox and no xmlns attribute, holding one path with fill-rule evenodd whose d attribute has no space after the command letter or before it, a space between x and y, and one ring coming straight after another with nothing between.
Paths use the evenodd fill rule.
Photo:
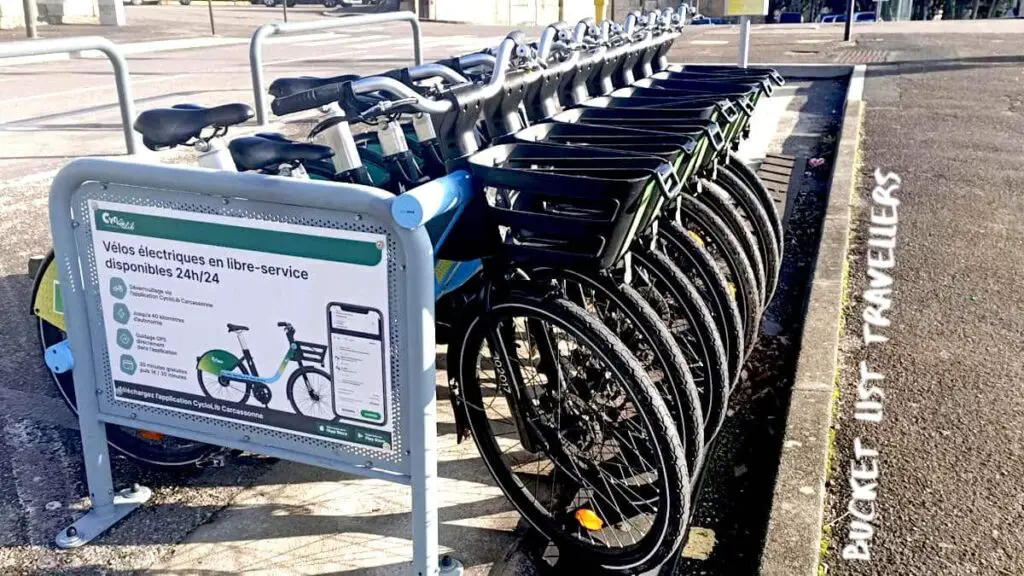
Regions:
<instances>
[{"instance_id":1,"label":"whole row of parked electric bicycles with black front baskets","mask_svg":"<svg viewBox=\"0 0 1024 576\"><path fill-rule=\"evenodd\" d=\"M278 79L273 112L319 111L323 143L225 142L253 117L242 104L151 110L135 129L210 168L452 191L428 232L460 440L561 554L636 573L684 540L782 256L779 215L734 152L782 78L670 66L684 20L559 23L378 76ZM66 337L42 317L40 335ZM54 378L74 407L71 375ZM217 450L109 427L155 464Z\"/></svg>"}]
</instances>

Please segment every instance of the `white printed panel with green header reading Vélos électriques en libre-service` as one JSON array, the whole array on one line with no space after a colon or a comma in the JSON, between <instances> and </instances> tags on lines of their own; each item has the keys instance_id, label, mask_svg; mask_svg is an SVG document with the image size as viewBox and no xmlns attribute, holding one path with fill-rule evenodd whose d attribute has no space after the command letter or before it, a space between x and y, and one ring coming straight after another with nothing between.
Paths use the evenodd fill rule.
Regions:
<instances>
[{"instance_id":1,"label":"white printed panel with green header reading V\u00e9los \u00e9lectriques en libre-service","mask_svg":"<svg viewBox=\"0 0 1024 576\"><path fill-rule=\"evenodd\" d=\"M90 202L119 400L390 451L383 235Z\"/></svg>"}]
</instances>

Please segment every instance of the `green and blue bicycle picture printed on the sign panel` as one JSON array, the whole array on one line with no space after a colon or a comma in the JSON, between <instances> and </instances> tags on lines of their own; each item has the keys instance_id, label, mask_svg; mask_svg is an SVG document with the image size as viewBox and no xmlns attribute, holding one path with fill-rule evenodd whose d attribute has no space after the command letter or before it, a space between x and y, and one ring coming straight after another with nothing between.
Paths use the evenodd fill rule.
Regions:
<instances>
[{"instance_id":1,"label":"green and blue bicycle picture printed on the sign panel","mask_svg":"<svg viewBox=\"0 0 1024 576\"><path fill-rule=\"evenodd\" d=\"M261 377L256 369L256 361L249 352L245 332L247 326L228 324L227 332L234 334L242 348L242 358L224 349L211 349L197 359L196 374L200 387L208 397L223 402L245 404L250 396L264 407L270 404L273 393L270 385L279 381L285 374L290 362L298 364L288 378L286 393L288 401L296 414L333 420L332 405L334 383L331 375L322 368L305 363L325 366L327 346L313 342L295 339L295 328L288 322L279 322L278 326L285 329L288 338L288 351L278 365L278 371L272 376Z\"/></svg>"}]
</instances>

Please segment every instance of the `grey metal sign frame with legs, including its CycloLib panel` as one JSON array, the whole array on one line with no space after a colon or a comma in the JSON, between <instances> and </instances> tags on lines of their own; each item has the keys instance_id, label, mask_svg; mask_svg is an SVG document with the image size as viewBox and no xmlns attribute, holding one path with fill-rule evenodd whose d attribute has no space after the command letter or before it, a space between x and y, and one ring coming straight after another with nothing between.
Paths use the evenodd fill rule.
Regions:
<instances>
[{"instance_id":1,"label":"grey metal sign frame with legs, including its CycloLib panel","mask_svg":"<svg viewBox=\"0 0 1024 576\"><path fill-rule=\"evenodd\" d=\"M408 484L414 574L436 574L423 224L450 205L431 196L443 187L423 189L424 216L403 228L400 197L368 187L102 159L65 167L49 208L69 340L47 364L74 370L92 507L57 544L85 544L148 498L114 491L112 423Z\"/></svg>"}]
</instances>

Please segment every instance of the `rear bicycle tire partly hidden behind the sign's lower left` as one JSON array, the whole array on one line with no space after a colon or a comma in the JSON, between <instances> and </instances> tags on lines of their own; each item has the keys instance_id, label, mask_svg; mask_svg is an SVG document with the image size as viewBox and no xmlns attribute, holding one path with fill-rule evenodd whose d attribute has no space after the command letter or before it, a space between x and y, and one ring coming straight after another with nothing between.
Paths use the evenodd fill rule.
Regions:
<instances>
[{"instance_id":1,"label":"rear bicycle tire partly hidden behind the sign's lower left","mask_svg":"<svg viewBox=\"0 0 1024 576\"><path fill-rule=\"evenodd\" d=\"M45 270L40 268L40 274ZM52 324L39 318L39 330L37 336L42 349L58 343L68 338L67 334ZM78 415L78 403L75 397L75 380L71 372L55 374L48 368L50 377L60 393L60 398L68 405L68 408ZM203 444L185 439L159 435L158 443L156 436L153 440L141 438L140 434L145 430L122 427L115 424L106 424L106 444L128 456L151 466L158 466L165 469L182 469L185 466L196 464L205 460L222 449L219 446Z\"/></svg>"}]
</instances>

